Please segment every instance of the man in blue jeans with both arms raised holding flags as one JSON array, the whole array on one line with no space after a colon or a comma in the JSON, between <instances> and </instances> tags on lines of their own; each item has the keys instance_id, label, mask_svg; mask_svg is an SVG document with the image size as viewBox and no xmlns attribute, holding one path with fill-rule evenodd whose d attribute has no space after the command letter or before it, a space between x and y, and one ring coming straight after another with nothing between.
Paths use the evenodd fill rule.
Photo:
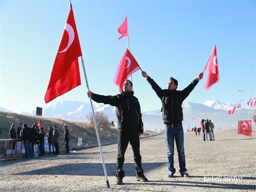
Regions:
<instances>
[{"instance_id":1,"label":"man in blue jeans with both arms raised holding flags","mask_svg":"<svg viewBox=\"0 0 256 192\"><path fill-rule=\"evenodd\" d=\"M142 71L142 76L147 78L147 81L156 92L157 96L162 101L162 116L165 124L165 140L167 146L167 163L168 163L168 177L173 177L176 169L174 168L174 139L178 151L178 160L180 166L180 174L182 177L188 177L186 169L186 160L184 153L184 132L182 127L183 113L182 102L188 97L190 92L198 84L204 76L204 73L198 74L184 90L178 91L178 81L170 78L167 89L160 88L156 82L148 74Z\"/></svg>"}]
</instances>

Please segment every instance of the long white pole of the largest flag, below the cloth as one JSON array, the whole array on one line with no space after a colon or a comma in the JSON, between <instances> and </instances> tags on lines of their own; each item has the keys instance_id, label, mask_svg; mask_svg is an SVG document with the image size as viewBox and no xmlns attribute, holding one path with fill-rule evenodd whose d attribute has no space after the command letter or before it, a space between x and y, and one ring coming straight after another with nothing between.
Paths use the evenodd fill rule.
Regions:
<instances>
[{"instance_id":1,"label":"long white pole of the largest flag, below the cloth","mask_svg":"<svg viewBox=\"0 0 256 192\"><path fill-rule=\"evenodd\" d=\"M85 71L85 67L84 67L83 56L81 56L81 60L82 60L82 65L83 65L84 77L85 77L85 81L86 81L87 90L90 91L87 76L86 76L86 71ZM94 113L91 97L90 97L90 103L91 103L91 108L92 108L92 116L93 116L93 120L94 120L94 125L95 125L95 129L96 129L96 135L97 135L98 144L99 144L99 148L100 148L100 156L101 156L101 160L102 160L102 164L103 164L104 174L105 174L106 182L107 182L107 185L108 185L108 188L109 188L108 174L107 174L107 171L106 171L105 160L104 160L104 156L103 156L103 153L102 153L102 148L101 148L101 143L100 143L100 136L99 136L98 126L97 126L97 122L96 122L96 118L95 118L95 113Z\"/></svg>"}]
</instances>

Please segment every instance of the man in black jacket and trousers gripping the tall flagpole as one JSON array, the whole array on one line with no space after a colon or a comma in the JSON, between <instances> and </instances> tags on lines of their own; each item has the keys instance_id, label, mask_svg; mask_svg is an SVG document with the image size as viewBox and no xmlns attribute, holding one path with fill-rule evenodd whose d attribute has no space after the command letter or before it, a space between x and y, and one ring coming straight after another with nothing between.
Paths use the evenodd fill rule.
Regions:
<instances>
[{"instance_id":1,"label":"man in black jacket and trousers gripping the tall flagpole","mask_svg":"<svg viewBox=\"0 0 256 192\"><path fill-rule=\"evenodd\" d=\"M128 143L130 142L134 153L134 162L137 181L147 182L141 165L140 156L140 135L143 134L143 122L140 112L140 103L133 95L132 82L125 80L123 90L115 96L103 96L87 92L88 97L97 103L110 104L116 106L116 116L118 119L118 154L116 161L116 178L117 185L123 184L124 178L124 154Z\"/></svg>"}]
</instances>

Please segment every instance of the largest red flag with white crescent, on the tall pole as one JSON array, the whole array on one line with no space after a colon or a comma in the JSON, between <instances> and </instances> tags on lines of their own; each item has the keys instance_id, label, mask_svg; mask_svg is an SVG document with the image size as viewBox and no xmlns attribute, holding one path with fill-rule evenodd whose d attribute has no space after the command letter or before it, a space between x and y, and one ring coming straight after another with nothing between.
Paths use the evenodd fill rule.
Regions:
<instances>
[{"instance_id":1,"label":"largest red flag with white crescent, on the tall pole","mask_svg":"<svg viewBox=\"0 0 256 192\"><path fill-rule=\"evenodd\" d=\"M82 56L72 6L54 60L44 100L46 103L81 85L78 57Z\"/></svg>"}]
</instances>

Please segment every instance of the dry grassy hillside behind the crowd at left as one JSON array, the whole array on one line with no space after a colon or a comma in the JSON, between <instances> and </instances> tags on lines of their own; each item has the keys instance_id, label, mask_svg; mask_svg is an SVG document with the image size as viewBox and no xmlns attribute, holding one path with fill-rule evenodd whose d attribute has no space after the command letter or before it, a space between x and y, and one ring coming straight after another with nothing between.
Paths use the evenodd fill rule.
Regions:
<instances>
[{"instance_id":1,"label":"dry grassy hillside behind the crowd at left","mask_svg":"<svg viewBox=\"0 0 256 192\"><path fill-rule=\"evenodd\" d=\"M43 116L31 116L31 115L21 115L17 113L9 113L0 111L0 127L2 130L1 139L10 138L9 130L11 124L15 124L15 130L18 128L18 123L23 122L31 127L35 122L38 123L40 120L41 126L44 130L48 131L49 126L56 125L60 135L64 133L63 125L64 123L68 126L70 132L69 146L70 150L79 150L78 138L83 138L83 148L88 148L90 146L96 146L98 144L95 127L88 122L80 121L68 121L62 119L46 118ZM116 142L117 138L117 127L98 127L100 142L102 145ZM155 134L154 132L145 131L144 136ZM65 150L64 138L59 139L60 152ZM1 151L3 151L4 143L1 142ZM10 147L8 146L8 149Z\"/></svg>"}]
</instances>

